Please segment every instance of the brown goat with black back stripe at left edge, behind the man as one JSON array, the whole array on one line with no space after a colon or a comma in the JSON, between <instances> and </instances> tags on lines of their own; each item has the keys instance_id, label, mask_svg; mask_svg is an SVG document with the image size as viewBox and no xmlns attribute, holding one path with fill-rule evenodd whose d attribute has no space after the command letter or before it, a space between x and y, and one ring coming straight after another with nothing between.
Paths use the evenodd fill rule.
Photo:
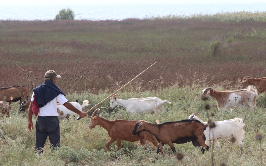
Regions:
<instances>
[{"instance_id":1,"label":"brown goat with black back stripe at left edge, behind the man","mask_svg":"<svg viewBox=\"0 0 266 166\"><path fill-rule=\"evenodd\" d=\"M25 86L10 86L6 88L0 88L0 101L8 102L9 98L13 96L12 102L16 102L20 100L20 104L22 101L28 98L29 89Z\"/></svg>"}]
</instances>

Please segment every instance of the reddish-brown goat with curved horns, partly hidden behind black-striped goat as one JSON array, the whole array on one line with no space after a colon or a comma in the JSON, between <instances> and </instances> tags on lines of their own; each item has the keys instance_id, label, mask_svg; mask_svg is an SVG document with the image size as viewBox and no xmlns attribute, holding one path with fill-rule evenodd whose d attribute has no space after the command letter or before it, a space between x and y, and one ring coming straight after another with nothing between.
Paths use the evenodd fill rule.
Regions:
<instances>
[{"instance_id":1,"label":"reddish-brown goat with curved horns, partly hidden behind black-striped goat","mask_svg":"<svg viewBox=\"0 0 266 166\"><path fill-rule=\"evenodd\" d=\"M110 150L109 145L113 142L117 142L117 150L120 150L121 147L121 140L135 142L140 141L140 145L147 145L149 142L152 142L154 146L158 147L158 142L156 141L156 138L148 133L148 132L142 132L139 136L132 135L132 130L136 124L136 122L139 122L139 120L114 120L109 121L107 119L104 119L100 116L95 115L97 111L99 111L99 108L96 109L92 116L90 116L90 124L89 128L92 129L96 125L103 126L104 129L107 130L109 137L111 137L110 141L106 144L106 148ZM155 122L157 123L157 121ZM160 151L162 152L162 151Z\"/></svg>"}]
</instances>

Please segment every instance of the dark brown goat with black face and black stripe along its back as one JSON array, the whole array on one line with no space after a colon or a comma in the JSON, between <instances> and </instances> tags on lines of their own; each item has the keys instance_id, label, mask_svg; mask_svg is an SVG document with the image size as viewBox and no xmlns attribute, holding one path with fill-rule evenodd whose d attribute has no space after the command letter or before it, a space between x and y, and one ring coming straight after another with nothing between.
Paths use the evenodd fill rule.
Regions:
<instances>
[{"instance_id":1,"label":"dark brown goat with black face and black stripe along its back","mask_svg":"<svg viewBox=\"0 0 266 166\"><path fill-rule=\"evenodd\" d=\"M202 148L202 153L209 149L209 147L204 143L205 136L203 134L206 130L207 125L202 124L198 120L182 120L174 122L165 122L162 124L151 124L146 121L139 121L136 123L132 134L140 135L143 131L147 131L156 137L157 141L160 142L157 153L163 148L164 144L168 144L173 153L176 153L176 144L184 144L192 141L195 147Z\"/></svg>"}]
</instances>

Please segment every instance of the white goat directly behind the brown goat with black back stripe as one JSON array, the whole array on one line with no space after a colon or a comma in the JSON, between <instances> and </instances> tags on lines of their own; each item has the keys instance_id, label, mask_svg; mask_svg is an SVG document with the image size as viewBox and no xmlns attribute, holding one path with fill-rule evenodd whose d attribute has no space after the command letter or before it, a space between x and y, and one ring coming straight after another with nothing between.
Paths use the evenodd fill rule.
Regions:
<instances>
[{"instance_id":1,"label":"white goat directly behind the brown goat with black back stripe","mask_svg":"<svg viewBox=\"0 0 266 166\"><path fill-rule=\"evenodd\" d=\"M193 113L189 116L189 119L195 119L200 121L202 124L208 124L208 122L203 122L200 118L195 116L196 114L200 115L199 113ZM243 129L244 123L241 118L215 121L214 124L215 127L211 129L211 132L209 126L207 126L207 129L203 132L206 137L205 144L209 146L210 140L213 139L216 147L220 148L220 144L217 139L231 139L234 137L236 142L240 145L241 150L243 150L245 131Z\"/></svg>"}]
</instances>

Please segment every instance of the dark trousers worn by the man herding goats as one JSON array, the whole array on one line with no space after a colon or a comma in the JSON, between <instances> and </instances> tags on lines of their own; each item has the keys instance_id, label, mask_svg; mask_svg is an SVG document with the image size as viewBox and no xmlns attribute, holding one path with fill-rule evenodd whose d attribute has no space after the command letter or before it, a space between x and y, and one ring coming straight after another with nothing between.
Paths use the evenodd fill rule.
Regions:
<instances>
[{"instance_id":1,"label":"dark trousers worn by the man herding goats","mask_svg":"<svg viewBox=\"0 0 266 166\"><path fill-rule=\"evenodd\" d=\"M52 150L56 147L60 147L60 127L58 116L38 116L35 129L35 149L38 152L43 152L47 136L49 136Z\"/></svg>"}]
</instances>

